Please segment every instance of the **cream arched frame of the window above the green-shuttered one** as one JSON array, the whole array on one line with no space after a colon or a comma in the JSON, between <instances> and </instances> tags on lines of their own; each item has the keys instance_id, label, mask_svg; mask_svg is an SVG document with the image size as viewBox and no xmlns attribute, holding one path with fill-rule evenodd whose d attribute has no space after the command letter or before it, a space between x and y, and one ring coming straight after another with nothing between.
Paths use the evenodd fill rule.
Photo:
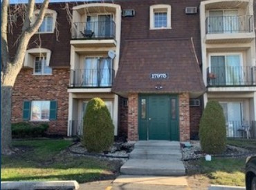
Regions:
<instances>
[{"instance_id":1,"label":"cream arched frame of the window above the green-shuttered one","mask_svg":"<svg viewBox=\"0 0 256 190\"><path fill-rule=\"evenodd\" d=\"M51 50L46 48L37 47L26 51L24 59L24 67L30 67L34 69L35 74L35 57L44 57L46 59L46 66L49 67L51 59ZM36 74L38 75L38 74ZM40 75L51 75L51 74L40 74Z\"/></svg>"}]
</instances>

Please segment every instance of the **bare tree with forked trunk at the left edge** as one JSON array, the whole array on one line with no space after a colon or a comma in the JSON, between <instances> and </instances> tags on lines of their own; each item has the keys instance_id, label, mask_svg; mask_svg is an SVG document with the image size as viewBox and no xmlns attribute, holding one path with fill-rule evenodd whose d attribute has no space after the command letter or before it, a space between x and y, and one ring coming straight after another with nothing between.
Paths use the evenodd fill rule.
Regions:
<instances>
[{"instance_id":1,"label":"bare tree with forked trunk at the left edge","mask_svg":"<svg viewBox=\"0 0 256 190\"><path fill-rule=\"evenodd\" d=\"M12 87L21 70L22 63L28 47L30 38L37 32L44 20L49 0L44 0L35 23L31 23L35 10L35 0L28 0L24 10L24 23L22 32L19 35L19 43L15 59L9 61L7 18L8 0L1 1L1 154L12 154L12 131L11 131L11 110L12 110Z\"/></svg>"}]
</instances>

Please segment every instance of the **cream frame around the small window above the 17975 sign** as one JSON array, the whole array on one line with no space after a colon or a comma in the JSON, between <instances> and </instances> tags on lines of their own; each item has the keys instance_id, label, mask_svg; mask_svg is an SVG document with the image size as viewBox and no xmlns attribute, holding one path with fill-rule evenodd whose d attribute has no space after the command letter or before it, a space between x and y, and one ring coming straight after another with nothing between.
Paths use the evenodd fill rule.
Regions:
<instances>
[{"instance_id":1,"label":"cream frame around the small window above the 17975 sign","mask_svg":"<svg viewBox=\"0 0 256 190\"><path fill-rule=\"evenodd\" d=\"M166 4L157 4L154 6L150 6L150 12L149 12L149 20L150 20L150 30L163 30L163 29L172 29L171 25L171 10L172 7L170 5ZM166 12L167 13L167 26L156 28L155 27L155 12Z\"/></svg>"}]
</instances>

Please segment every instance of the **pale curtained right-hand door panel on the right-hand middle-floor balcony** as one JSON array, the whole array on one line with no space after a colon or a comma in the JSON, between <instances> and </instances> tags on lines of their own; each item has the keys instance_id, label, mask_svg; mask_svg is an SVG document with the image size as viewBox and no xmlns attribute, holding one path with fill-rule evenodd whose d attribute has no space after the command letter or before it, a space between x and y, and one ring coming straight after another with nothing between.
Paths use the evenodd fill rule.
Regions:
<instances>
[{"instance_id":1,"label":"pale curtained right-hand door panel on the right-hand middle-floor balcony","mask_svg":"<svg viewBox=\"0 0 256 190\"><path fill-rule=\"evenodd\" d=\"M226 83L227 85L241 85L242 69L239 55L226 56Z\"/></svg>"}]
</instances>

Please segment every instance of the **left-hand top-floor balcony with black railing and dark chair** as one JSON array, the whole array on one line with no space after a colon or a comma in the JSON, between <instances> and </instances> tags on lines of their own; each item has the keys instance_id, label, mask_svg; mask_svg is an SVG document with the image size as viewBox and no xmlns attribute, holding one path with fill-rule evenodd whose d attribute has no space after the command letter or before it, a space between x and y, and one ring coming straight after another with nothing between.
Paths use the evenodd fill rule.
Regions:
<instances>
[{"instance_id":1,"label":"left-hand top-floor balcony with black railing and dark chair","mask_svg":"<svg viewBox=\"0 0 256 190\"><path fill-rule=\"evenodd\" d=\"M75 22L72 28L71 44L95 44L113 47L116 45L116 24L113 21ZM93 44L93 45L90 45Z\"/></svg>"}]
</instances>

